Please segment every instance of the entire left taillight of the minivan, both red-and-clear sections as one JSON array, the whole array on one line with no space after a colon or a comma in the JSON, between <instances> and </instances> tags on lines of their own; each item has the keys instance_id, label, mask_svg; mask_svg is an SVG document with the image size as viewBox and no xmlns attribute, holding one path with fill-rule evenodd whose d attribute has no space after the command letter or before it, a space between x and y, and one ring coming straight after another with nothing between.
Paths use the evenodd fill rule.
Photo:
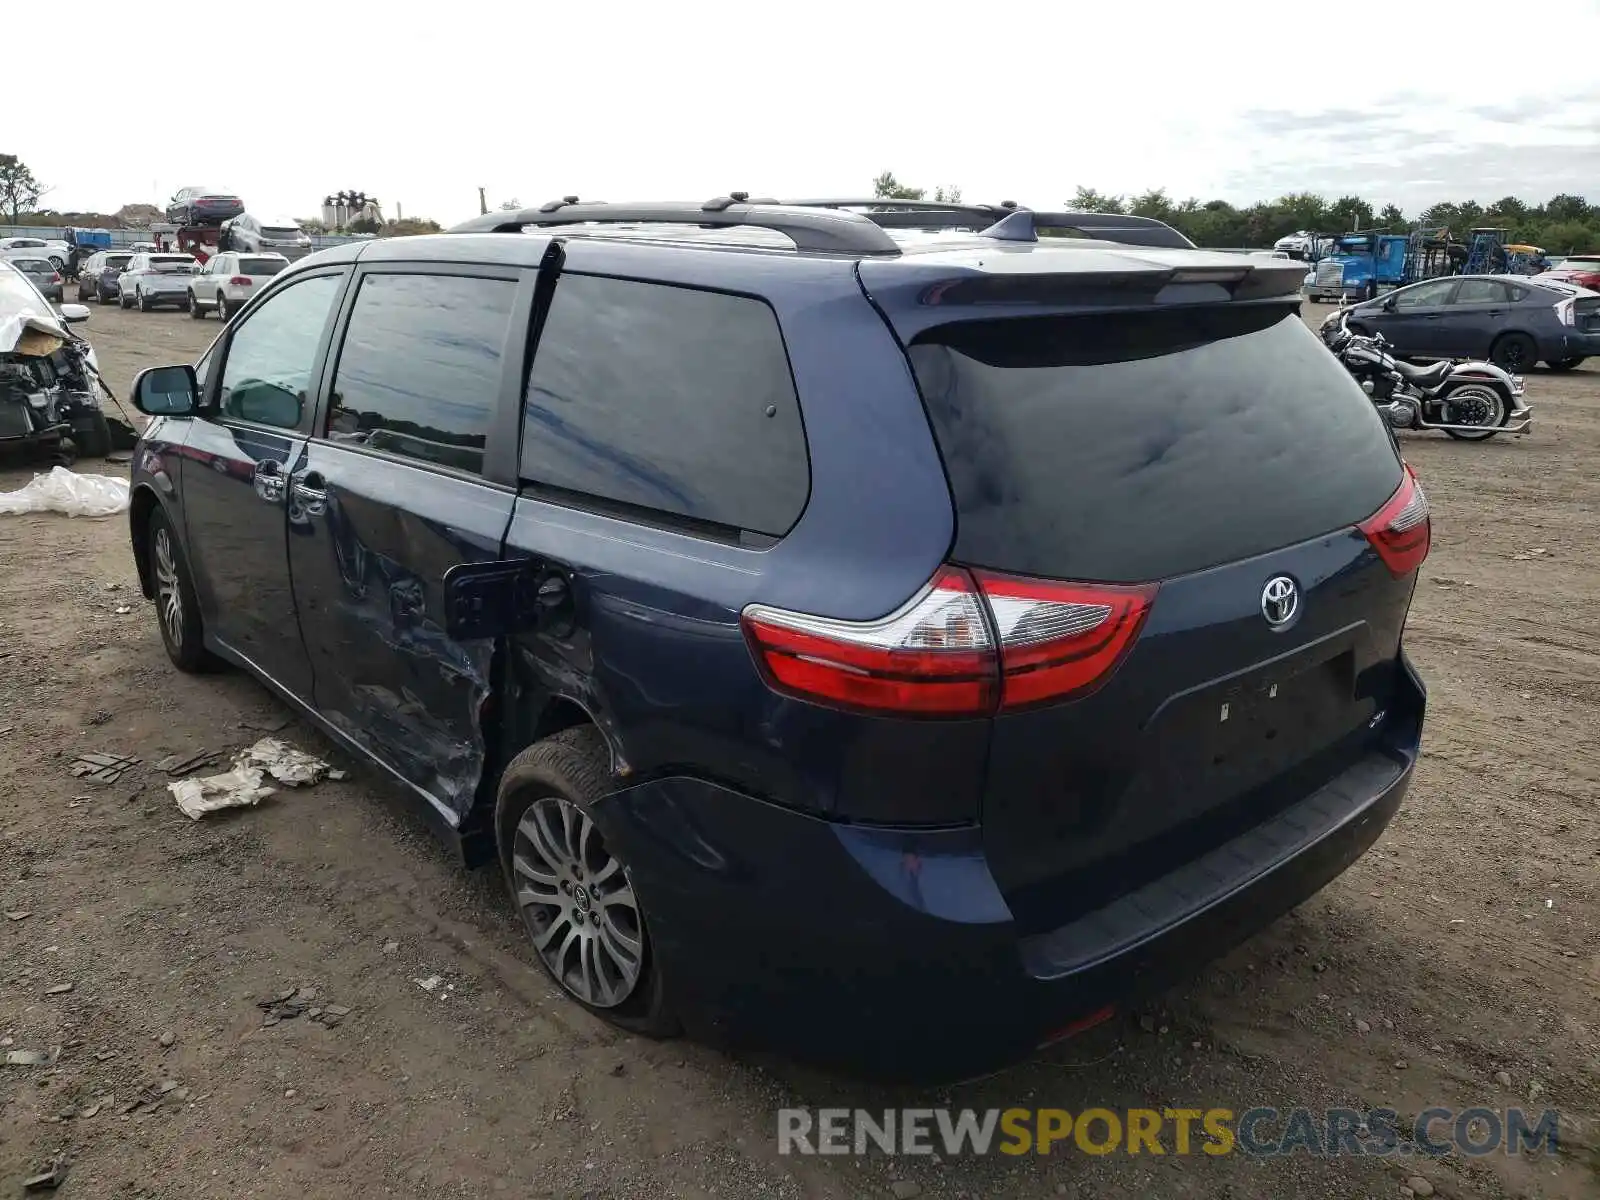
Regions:
<instances>
[{"instance_id":1,"label":"entire left taillight of the minivan, both red-and-clear sections","mask_svg":"<svg viewBox=\"0 0 1600 1200\"><path fill-rule=\"evenodd\" d=\"M750 605L742 624L778 691L867 712L987 717L1098 688L1133 646L1154 598L1154 584L1059 584L941 566L928 587L877 621Z\"/></svg>"}]
</instances>

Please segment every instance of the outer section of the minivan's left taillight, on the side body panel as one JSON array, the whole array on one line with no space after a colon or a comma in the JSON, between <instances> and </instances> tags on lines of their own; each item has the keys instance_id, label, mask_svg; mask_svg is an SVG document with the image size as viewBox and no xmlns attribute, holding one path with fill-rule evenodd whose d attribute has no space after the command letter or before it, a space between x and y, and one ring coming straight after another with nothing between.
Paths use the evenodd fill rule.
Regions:
<instances>
[{"instance_id":1,"label":"outer section of the minivan's left taillight, on the side body panel","mask_svg":"<svg viewBox=\"0 0 1600 1200\"><path fill-rule=\"evenodd\" d=\"M971 576L954 566L878 621L750 605L742 624L768 683L802 699L925 717L978 717L995 704L989 622Z\"/></svg>"}]
</instances>

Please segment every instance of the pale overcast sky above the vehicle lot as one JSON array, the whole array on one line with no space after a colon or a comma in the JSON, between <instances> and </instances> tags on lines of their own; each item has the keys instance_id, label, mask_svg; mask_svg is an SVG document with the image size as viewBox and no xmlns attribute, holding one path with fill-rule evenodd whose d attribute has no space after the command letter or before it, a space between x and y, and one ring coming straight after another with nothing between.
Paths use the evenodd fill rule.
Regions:
<instances>
[{"instance_id":1,"label":"pale overcast sky above the vehicle lot","mask_svg":"<svg viewBox=\"0 0 1600 1200\"><path fill-rule=\"evenodd\" d=\"M387 216L403 205L445 224L477 213L478 186L491 206L798 197L864 194L883 170L1034 206L1080 184L1235 203L1357 192L1408 213L1600 198L1595 0L1496 8L1498 32L1482 34L1472 5L1422 0L1349 16L1253 0L1085 18L1070 3L939 0L539 11L270 0L176 19L74 0L18 13L6 38L35 30L37 53L11 56L6 80L21 72L37 102L5 106L0 150L59 210L206 184L262 216L312 216L349 187Z\"/></svg>"}]
</instances>

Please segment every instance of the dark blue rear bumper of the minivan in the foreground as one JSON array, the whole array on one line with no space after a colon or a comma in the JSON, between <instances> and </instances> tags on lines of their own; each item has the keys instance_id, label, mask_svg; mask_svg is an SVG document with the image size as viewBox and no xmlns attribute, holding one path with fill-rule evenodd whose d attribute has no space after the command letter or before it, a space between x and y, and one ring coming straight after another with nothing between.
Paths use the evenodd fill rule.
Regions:
<instances>
[{"instance_id":1,"label":"dark blue rear bumper of the minivan in the foreground","mask_svg":"<svg viewBox=\"0 0 1600 1200\"><path fill-rule=\"evenodd\" d=\"M842 826L694 779L610 797L656 962L699 1037L846 1074L949 1080L1158 992L1315 894L1411 781L1424 691L1328 786L1171 875L1021 936L981 830Z\"/></svg>"}]
</instances>

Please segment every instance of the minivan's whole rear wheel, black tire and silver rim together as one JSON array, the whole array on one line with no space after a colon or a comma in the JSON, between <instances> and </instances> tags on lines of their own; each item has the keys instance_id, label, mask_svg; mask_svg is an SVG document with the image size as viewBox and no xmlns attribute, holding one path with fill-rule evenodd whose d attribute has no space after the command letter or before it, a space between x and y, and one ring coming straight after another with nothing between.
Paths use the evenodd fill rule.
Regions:
<instances>
[{"instance_id":1,"label":"minivan's whole rear wheel, black tire and silver rim together","mask_svg":"<svg viewBox=\"0 0 1600 1200\"><path fill-rule=\"evenodd\" d=\"M650 1037L678 1032L651 955L643 902L595 819L611 790L594 726L512 758L494 803L501 867L539 965L595 1016Z\"/></svg>"}]
</instances>

